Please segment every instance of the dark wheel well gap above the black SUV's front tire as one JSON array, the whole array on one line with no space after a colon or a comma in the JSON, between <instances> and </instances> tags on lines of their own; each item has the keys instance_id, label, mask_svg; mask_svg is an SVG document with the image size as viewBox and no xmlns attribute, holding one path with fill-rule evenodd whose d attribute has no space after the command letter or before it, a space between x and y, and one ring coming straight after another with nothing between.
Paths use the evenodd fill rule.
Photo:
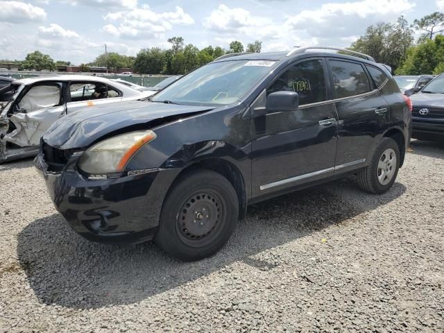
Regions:
<instances>
[{"instance_id":1,"label":"dark wheel well gap above the black SUV's front tire","mask_svg":"<svg viewBox=\"0 0 444 333\"><path fill-rule=\"evenodd\" d=\"M197 169L207 169L221 174L223 177L231 183L232 187L237 193L237 199L239 200L239 219L244 219L247 210L247 196L244 178L242 177L241 171L234 166L234 164L228 162L227 160L219 158L210 158L207 160L201 160L195 162L194 164L186 167L176 177L173 185L180 181L180 178L186 176L187 173L196 171ZM171 187L173 187L171 185Z\"/></svg>"}]
</instances>

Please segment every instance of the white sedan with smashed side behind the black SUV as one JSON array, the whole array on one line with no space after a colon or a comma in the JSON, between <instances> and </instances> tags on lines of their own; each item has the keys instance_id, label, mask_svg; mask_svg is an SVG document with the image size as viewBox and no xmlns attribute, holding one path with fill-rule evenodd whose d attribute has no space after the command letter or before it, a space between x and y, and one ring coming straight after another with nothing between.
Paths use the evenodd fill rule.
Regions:
<instances>
[{"instance_id":1,"label":"white sedan with smashed side behind the black SUV","mask_svg":"<svg viewBox=\"0 0 444 333\"><path fill-rule=\"evenodd\" d=\"M148 98L107 78L60 75L16 80L0 89L0 163L37 155L40 137L66 114L88 107Z\"/></svg>"}]
</instances>

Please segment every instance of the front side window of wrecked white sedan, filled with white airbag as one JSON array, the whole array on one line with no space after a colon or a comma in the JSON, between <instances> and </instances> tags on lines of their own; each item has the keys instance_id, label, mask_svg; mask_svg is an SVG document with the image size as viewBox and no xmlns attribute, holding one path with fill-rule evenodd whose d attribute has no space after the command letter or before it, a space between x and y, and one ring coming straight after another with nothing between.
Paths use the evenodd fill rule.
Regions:
<instances>
[{"instance_id":1,"label":"front side window of wrecked white sedan, filled with white airbag","mask_svg":"<svg viewBox=\"0 0 444 333\"><path fill-rule=\"evenodd\" d=\"M26 112L33 112L35 110L60 105L61 103L60 85L35 85L26 92L19 101L18 106Z\"/></svg>"}]
</instances>

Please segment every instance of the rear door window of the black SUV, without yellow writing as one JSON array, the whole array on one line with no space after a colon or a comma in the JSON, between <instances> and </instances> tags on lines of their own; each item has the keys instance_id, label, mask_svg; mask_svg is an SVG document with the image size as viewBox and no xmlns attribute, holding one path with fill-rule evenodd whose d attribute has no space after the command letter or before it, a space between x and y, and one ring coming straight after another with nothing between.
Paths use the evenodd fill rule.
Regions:
<instances>
[{"instance_id":1,"label":"rear door window of the black SUV, without yellow writing","mask_svg":"<svg viewBox=\"0 0 444 333\"><path fill-rule=\"evenodd\" d=\"M329 62L336 99L370 92L370 83L361 65L341 60L329 60Z\"/></svg>"}]
</instances>

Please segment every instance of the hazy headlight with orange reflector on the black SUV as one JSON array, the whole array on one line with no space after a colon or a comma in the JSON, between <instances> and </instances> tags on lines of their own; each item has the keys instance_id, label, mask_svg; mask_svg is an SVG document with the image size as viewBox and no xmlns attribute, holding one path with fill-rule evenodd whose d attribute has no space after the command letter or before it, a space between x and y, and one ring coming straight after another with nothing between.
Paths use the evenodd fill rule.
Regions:
<instances>
[{"instance_id":1,"label":"hazy headlight with orange reflector on the black SUV","mask_svg":"<svg viewBox=\"0 0 444 333\"><path fill-rule=\"evenodd\" d=\"M94 175L123 171L135 153L155 137L152 130L140 130L105 139L83 153L78 167Z\"/></svg>"}]
</instances>

